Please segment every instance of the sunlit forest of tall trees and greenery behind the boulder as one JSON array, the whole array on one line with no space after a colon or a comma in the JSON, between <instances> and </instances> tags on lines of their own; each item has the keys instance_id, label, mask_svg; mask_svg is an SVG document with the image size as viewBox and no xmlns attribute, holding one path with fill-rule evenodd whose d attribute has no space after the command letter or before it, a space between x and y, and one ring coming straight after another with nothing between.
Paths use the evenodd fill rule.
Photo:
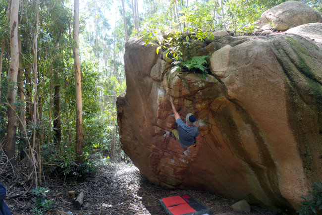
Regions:
<instances>
[{"instance_id":1,"label":"sunlit forest of tall trees and greenery behind the boulder","mask_svg":"<svg viewBox=\"0 0 322 215\"><path fill-rule=\"evenodd\" d=\"M19 4L16 78L9 72L11 1ZM284 1L86 0L79 10L78 45L73 35L74 2L0 0L0 164L11 168L24 163L30 168L29 178L41 185L42 175L80 178L93 171L94 152L106 159L125 157L115 101L126 93L123 53L129 37L154 40L175 61L182 61L180 46L189 45L188 40L162 41L161 31L173 29L177 37L195 32L200 40L218 30L254 32L252 23L262 12ZM301 1L322 14L321 0ZM80 53L80 118L74 48ZM77 119L82 123L80 133Z\"/></svg>"}]
</instances>

